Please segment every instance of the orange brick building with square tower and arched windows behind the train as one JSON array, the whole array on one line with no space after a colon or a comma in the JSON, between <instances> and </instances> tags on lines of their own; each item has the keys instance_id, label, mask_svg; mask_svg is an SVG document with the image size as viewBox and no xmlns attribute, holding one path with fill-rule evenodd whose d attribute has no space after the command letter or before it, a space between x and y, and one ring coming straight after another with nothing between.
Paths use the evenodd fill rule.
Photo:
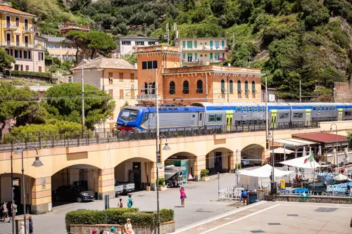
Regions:
<instances>
[{"instance_id":1,"label":"orange brick building with square tower and arched windows behind the train","mask_svg":"<svg viewBox=\"0 0 352 234\"><path fill-rule=\"evenodd\" d=\"M155 100L155 84L161 103L189 105L194 102L261 102L258 69L206 65L180 67L182 53L172 46L137 48L139 95L137 100Z\"/></svg>"}]
</instances>

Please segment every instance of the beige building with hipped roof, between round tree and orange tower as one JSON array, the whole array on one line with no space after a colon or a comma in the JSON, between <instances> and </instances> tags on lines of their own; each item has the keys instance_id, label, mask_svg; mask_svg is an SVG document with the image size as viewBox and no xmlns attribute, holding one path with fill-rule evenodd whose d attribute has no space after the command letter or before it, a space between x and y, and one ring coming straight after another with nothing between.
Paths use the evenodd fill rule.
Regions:
<instances>
[{"instance_id":1,"label":"beige building with hipped roof, between round tree and orange tower","mask_svg":"<svg viewBox=\"0 0 352 234\"><path fill-rule=\"evenodd\" d=\"M116 103L113 116L99 126L104 129L113 129L122 106L126 102L128 105L137 104L137 69L126 60L117 58L99 57L94 60L82 60L77 67L71 70L73 74L68 76L69 82L82 81L82 67L86 80L84 84L94 85L113 96Z\"/></svg>"}]
</instances>

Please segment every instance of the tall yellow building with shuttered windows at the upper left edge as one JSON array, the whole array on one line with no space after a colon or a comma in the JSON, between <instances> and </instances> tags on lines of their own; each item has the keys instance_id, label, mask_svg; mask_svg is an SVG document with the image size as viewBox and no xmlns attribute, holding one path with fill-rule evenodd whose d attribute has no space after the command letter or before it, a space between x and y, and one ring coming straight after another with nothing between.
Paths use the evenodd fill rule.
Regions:
<instances>
[{"instance_id":1,"label":"tall yellow building with shuttered windows at the upper left edge","mask_svg":"<svg viewBox=\"0 0 352 234\"><path fill-rule=\"evenodd\" d=\"M44 72L44 50L34 47L35 15L0 5L1 47L15 59L13 70Z\"/></svg>"}]
</instances>

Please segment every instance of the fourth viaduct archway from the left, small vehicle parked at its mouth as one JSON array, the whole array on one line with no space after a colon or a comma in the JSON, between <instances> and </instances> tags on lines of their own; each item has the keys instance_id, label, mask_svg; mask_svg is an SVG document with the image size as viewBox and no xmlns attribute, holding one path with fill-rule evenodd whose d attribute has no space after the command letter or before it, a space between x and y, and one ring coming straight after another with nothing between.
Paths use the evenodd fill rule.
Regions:
<instances>
[{"instance_id":1,"label":"fourth viaduct archway from the left, small vehicle parked at its mouth","mask_svg":"<svg viewBox=\"0 0 352 234\"><path fill-rule=\"evenodd\" d=\"M196 160L197 157L194 154L191 154L189 152L177 152L174 155L171 155L165 160L165 179L168 180L169 185L172 185L173 187L177 186L177 179L179 179L179 183L187 183L189 180L189 174L192 175L196 181L199 181L201 178L199 176L196 176L197 172L200 173L198 168L195 168L196 166ZM175 167L170 167L170 166L175 166ZM177 172L181 171L182 172L182 181L181 178L177 178ZM198 173L198 174L199 174Z\"/></svg>"}]
</instances>

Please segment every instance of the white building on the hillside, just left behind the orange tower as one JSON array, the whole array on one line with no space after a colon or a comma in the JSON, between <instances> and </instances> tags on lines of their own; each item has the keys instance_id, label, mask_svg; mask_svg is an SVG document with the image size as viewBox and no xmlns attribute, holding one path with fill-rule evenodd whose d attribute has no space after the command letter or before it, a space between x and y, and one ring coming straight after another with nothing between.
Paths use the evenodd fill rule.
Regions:
<instances>
[{"instance_id":1,"label":"white building on the hillside, just left behind the orange tower","mask_svg":"<svg viewBox=\"0 0 352 234\"><path fill-rule=\"evenodd\" d=\"M114 40L118 48L113 51L113 58L121 58L126 54L136 52L137 46L153 46L159 44L159 39L139 36L118 37Z\"/></svg>"}]
</instances>

